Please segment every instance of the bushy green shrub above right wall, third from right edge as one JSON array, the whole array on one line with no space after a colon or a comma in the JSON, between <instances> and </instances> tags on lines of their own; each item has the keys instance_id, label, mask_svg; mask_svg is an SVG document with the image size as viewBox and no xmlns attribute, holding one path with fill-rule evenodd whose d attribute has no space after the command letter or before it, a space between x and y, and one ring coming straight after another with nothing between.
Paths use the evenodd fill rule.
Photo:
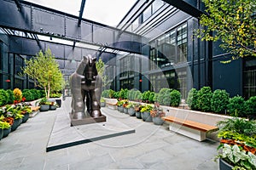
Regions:
<instances>
[{"instance_id":1,"label":"bushy green shrub above right wall, third from right edge","mask_svg":"<svg viewBox=\"0 0 256 170\"><path fill-rule=\"evenodd\" d=\"M212 111L215 113L224 113L229 105L230 94L225 90L217 89L212 94Z\"/></svg>"}]
</instances>

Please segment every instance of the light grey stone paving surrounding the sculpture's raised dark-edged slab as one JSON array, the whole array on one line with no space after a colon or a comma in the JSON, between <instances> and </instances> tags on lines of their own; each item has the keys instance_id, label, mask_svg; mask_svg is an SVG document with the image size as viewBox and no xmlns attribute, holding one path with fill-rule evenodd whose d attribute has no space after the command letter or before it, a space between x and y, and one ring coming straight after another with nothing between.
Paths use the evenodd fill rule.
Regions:
<instances>
[{"instance_id":1,"label":"light grey stone paving surrounding the sculpture's raised dark-edged slab","mask_svg":"<svg viewBox=\"0 0 256 170\"><path fill-rule=\"evenodd\" d=\"M102 108L135 128L136 133L46 152L55 116L70 110L70 100L56 111L40 112L0 140L0 169L84 170L84 169L170 169L216 170L213 161L218 142L198 142L167 126L156 126L118 111Z\"/></svg>"}]
</instances>

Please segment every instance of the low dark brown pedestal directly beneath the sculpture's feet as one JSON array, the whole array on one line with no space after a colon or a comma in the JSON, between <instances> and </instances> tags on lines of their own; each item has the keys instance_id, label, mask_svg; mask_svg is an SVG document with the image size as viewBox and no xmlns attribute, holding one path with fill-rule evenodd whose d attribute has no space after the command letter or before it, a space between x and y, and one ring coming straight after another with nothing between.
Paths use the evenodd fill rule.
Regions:
<instances>
[{"instance_id":1,"label":"low dark brown pedestal directly beneath the sculpture's feet","mask_svg":"<svg viewBox=\"0 0 256 170\"><path fill-rule=\"evenodd\" d=\"M86 117L84 119L73 119L71 113L69 113L71 126L79 126L96 122L106 122L106 116L102 115L99 117Z\"/></svg>"}]
</instances>

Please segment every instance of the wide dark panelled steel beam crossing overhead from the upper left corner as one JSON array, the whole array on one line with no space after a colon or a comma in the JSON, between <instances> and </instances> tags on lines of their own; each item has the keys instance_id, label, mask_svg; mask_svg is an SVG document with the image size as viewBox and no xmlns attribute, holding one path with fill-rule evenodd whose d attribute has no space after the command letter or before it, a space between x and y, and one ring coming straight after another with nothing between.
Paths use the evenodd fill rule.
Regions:
<instances>
[{"instance_id":1,"label":"wide dark panelled steel beam crossing overhead from the upper left corner","mask_svg":"<svg viewBox=\"0 0 256 170\"><path fill-rule=\"evenodd\" d=\"M0 0L0 27L15 31L24 31L48 37L56 37L72 42L84 42L108 48L117 48L120 51L141 53L140 47L134 48L132 42L142 42L142 37L125 31L120 39L117 38L119 29L106 26L91 20L46 8L35 3L20 1L22 10L17 11L15 1ZM10 20L11 19L11 20ZM128 41L127 41L128 40ZM130 45L114 44L122 41ZM136 49L136 50L135 50Z\"/></svg>"}]
</instances>

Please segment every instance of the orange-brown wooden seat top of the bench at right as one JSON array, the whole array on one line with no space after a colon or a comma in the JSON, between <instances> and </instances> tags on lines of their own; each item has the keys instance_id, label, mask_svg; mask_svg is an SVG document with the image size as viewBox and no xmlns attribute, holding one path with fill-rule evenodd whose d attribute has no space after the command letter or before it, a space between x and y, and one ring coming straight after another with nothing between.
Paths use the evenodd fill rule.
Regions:
<instances>
[{"instance_id":1,"label":"orange-brown wooden seat top of the bench at right","mask_svg":"<svg viewBox=\"0 0 256 170\"><path fill-rule=\"evenodd\" d=\"M175 116L165 116L165 117L162 117L162 119L165 120L166 122L175 122L177 124L180 124L180 125L183 125L183 126L186 126L186 127L194 128L196 130L201 130L203 132L218 129L218 127L203 124L203 123L200 123L200 122L193 122L193 121L189 121L189 120L183 120L183 119L180 119L180 118L175 117Z\"/></svg>"}]
</instances>

